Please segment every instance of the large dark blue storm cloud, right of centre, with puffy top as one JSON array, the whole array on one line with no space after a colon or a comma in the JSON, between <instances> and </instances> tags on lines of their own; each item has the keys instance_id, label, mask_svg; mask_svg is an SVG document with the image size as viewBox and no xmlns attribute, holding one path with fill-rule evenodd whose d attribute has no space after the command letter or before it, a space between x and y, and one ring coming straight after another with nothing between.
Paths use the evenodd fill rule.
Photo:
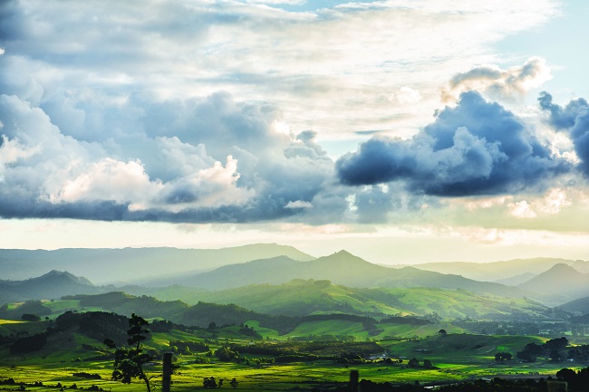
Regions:
<instances>
[{"instance_id":1,"label":"large dark blue storm cloud, right of centre, with puffy top","mask_svg":"<svg viewBox=\"0 0 589 392\"><path fill-rule=\"evenodd\" d=\"M474 91L413 139L371 139L336 168L347 185L400 180L436 196L517 192L568 169L513 113Z\"/></svg>"}]
</instances>

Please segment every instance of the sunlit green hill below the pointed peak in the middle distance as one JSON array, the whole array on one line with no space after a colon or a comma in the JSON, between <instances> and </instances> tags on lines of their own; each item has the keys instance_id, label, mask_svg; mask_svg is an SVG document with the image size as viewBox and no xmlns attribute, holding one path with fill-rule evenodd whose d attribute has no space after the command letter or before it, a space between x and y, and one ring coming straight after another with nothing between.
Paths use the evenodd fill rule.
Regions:
<instances>
[{"instance_id":1,"label":"sunlit green hill below the pointed peak in the middle distance","mask_svg":"<svg viewBox=\"0 0 589 392\"><path fill-rule=\"evenodd\" d=\"M541 316L547 308L526 299L481 296L465 290L437 288L353 289L329 281L294 280L284 284L258 284L200 294L202 301L235 303L269 314L427 315L444 318L508 319Z\"/></svg>"}]
</instances>

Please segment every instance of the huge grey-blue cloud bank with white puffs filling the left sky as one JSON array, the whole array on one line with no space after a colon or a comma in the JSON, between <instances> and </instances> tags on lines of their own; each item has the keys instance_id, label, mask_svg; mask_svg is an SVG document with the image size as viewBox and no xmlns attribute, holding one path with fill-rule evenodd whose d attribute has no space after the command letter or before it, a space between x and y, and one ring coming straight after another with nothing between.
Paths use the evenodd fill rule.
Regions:
<instances>
[{"instance_id":1,"label":"huge grey-blue cloud bank with white puffs filling the left sky","mask_svg":"<svg viewBox=\"0 0 589 392\"><path fill-rule=\"evenodd\" d=\"M72 108L81 121L67 135L43 109L0 95L0 215L257 221L304 214L333 182L316 134L287 133L272 105L227 93L89 111L72 100L53 108L56 122Z\"/></svg>"}]
</instances>

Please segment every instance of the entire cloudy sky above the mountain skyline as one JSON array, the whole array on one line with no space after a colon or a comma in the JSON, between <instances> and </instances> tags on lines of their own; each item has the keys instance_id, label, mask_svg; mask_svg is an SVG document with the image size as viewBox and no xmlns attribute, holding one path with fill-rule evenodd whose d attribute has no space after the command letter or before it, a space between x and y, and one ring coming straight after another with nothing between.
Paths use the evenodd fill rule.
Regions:
<instances>
[{"instance_id":1,"label":"entire cloudy sky above the mountain skyline","mask_svg":"<svg viewBox=\"0 0 589 392\"><path fill-rule=\"evenodd\" d=\"M589 260L587 15L4 1L0 248Z\"/></svg>"}]
</instances>

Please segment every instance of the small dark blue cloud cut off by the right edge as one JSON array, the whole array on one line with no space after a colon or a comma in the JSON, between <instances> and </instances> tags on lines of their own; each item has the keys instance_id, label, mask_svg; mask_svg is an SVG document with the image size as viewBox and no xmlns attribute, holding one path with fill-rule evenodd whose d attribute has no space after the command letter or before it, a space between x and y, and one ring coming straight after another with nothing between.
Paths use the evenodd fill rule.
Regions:
<instances>
[{"instance_id":1,"label":"small dark blue cloud cut off by the right edge","mask_svg":"<svg viewBox=\"0 0 589 392\"><path fill-rule=\"evenodd\" d=\"M548 123L555 129L566 129L581 160L579 167L589 177L589 104L578 98L560 106L552 101L552 95L543 91L538 98L540 107L548 112Z\"/></svg>"}]
</instances>

